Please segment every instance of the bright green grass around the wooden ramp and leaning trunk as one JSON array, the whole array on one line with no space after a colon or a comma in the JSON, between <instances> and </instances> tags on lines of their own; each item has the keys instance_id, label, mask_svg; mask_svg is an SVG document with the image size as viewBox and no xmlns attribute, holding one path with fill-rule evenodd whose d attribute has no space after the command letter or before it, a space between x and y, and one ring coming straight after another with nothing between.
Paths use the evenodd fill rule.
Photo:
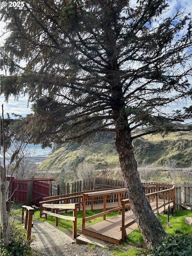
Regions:
<instances>
[{"instance_id":1,"label":"bright green grass around the wooden ramp and leaning trunk","mask_svg":"<svg viewBox=\"0 0 192 256\"><path fill-rule=\"evenodd\" d=\"M12 207L11 215L17 220L21 220L21 207L22 204L16 203L15 207ZM86 217L99 213L101 211L86 211ZM114 217L118 214L118 212L112 212L106 215L106 219ZM63 215L73 216L73 212L63 213ZM185 223L186 217L192 217L192 212L189 210L176 210L174 216L170 216L169 223L167 223L167 215L159 215L158 219L161 221L164 230L168 235L174 236L175 234L191 234L192 235L192 227ZM45 218L40 218L40 210L35 209L35 214L33 215L33 220L47 221L49 224L55 226L55 217L47 216L47 220ZM103 216L93 219L91 221L86 222L86 226L93 225L103 221ZM58 219L58 227L59 230L72 231L73 221ZM81 233L82 228L82 211L77 212L77 232ZM111 253L114 256L137 256L137 255L150 255L147 254L145 250L143 250L143 238L140 233L139 228L136 228L129 235L127 240L122 244L117 246L115 249L110 249Z\"/></svg>"}]
</instances>

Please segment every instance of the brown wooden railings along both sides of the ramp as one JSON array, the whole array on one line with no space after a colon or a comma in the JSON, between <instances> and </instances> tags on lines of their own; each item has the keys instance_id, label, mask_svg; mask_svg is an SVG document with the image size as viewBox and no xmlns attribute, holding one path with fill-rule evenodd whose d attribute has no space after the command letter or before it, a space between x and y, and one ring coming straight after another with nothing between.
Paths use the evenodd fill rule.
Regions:
<instances>
[{"instance_id":1,"label":"brown wooden railings along both sides of the ramp","mask_svg":"<svg viewBox=\"0 0 192 256\"><path fill-rule=\"evenodd\" d=\"M172 208L175 209L175 186L167 185L167 184L146 184L143 185L143 189L145 191L146 197L149 202L156 200L156 211L164 207L169 203L173 203ZM118 211L120 214L120 210L122 209L122 238L125 238L125 208L131 208L128 197L126 197L126 188L108 188L105 190L92 190L92 191L83 191L76 192L71 194L58 195L53 197L45 197L40 202L40 217L45 214L45 218L47 218L47 214L55 216L55 224L58 225L58 218L65 218L63 215L59 215L59 211L63 211L64 209L71 209L71 205L74 203L76 205L76 209L81 209L82 206L82 233L85 229L85 222L91 219L104 216L104 220L106 219L106 215ZM82 194L83 193L83 194ZM164 200L164 203L158 206L158 198ZM165 201L166 200L166 201ZM168 200L168 201L167 201ZM107 202L118 202L118 206L113 209L107 210ZM103 212L91 215L89 217L85 217L85 209L86 205L91 205L91 209L93 209L94 203L103 203ZM67 207L62 208L62 205L67 205ZM52 212L47 209L52 209ZM53 210L54 209L54 210ZM54 212L55 211L55 212ZM62 216L62 217L60 217ZM76 216L74 216L76 217ZM72 217L71 217L72 218ZM71 219L72 220L72 219ZM128 224L129 226L130 224ZM74 235L75 236L75 235Z\"/></svg>"}]
</instances>

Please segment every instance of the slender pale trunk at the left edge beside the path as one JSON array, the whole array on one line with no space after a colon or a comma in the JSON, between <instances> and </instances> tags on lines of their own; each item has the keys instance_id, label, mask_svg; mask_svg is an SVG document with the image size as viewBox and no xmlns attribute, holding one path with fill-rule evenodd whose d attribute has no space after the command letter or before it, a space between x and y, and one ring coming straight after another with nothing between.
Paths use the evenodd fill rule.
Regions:
<instances>
[{"instance_id":1,"label":"slender pale trunk at the left edge beside the path","mask_svg":"<svg viewBox=\"0 0 192 256\"><path fill-rule=\"evenodd\" d=\"M4 170L1 167L1 229L3 232L3 245L4 248L8 247L8 215L6 208L6 185L4 180Z\"/></svg>"}]
</instances>

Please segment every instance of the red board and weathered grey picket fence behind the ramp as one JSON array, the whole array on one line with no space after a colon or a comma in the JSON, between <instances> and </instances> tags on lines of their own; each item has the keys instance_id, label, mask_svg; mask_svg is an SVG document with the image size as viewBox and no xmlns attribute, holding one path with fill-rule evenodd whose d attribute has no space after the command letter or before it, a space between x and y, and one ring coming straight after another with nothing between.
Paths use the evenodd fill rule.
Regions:
<instances>
[{"instance_id":1,"label":"red board and weathered grey picket fence behind the ramp","mask_svg":"<svg viewBox=\"0 0 192 256\"><path fill-rule=\"evenodd\" d=\"M98 189L119 188L125 187L124 181L106 179L103 177L88 178L82 181L70 183L62 183L53 185L50 179L34 178L32 180L18 180L13 177L10 180L9 201L26 203L27 194L29 194L29 185L32 182L32 204L40 206L39 202L43 197L57 196L70 193L77 193L81 191L90 191ZM49 181L45 183L42 181ZM145 184L152 184L157 182L146 182ZM150 192L149 192L150 193ZM126 197L126 194L124 195ZM122 195L123 197L123 195ZM10 205L10 204L9 204ZM176 185L176 209L182 209L182 205L192 208L192 182L185 182L184 185Z\"/></svg>"}]
</instances>

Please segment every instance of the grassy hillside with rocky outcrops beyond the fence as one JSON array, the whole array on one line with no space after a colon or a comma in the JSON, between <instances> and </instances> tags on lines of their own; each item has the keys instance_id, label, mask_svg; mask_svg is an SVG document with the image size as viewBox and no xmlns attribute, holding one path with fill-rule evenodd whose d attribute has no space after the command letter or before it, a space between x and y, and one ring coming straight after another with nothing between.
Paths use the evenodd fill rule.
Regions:
<instances>
[{"instance_id":1,"label":"grassy hillside with rocky outcrops beyond the fence","mask_svg":"<svg viewBox=\"0 0 192 256\"><path fill-rule=\"evenodd\" d=\"M119 167L119 158L113 139L108 144L91 144L89 146L63 144L56 146L39 170L67 170L76 159L89 161L96 169ZM106 143L106 142L105 142ZM138 164L147 162L151 166L164 166L168 158L175 159L178 167L192 164L192 133L170 134L163 138L160 134L144 136L133 141L134 153Z\"/></svg>"}]
</instances>

